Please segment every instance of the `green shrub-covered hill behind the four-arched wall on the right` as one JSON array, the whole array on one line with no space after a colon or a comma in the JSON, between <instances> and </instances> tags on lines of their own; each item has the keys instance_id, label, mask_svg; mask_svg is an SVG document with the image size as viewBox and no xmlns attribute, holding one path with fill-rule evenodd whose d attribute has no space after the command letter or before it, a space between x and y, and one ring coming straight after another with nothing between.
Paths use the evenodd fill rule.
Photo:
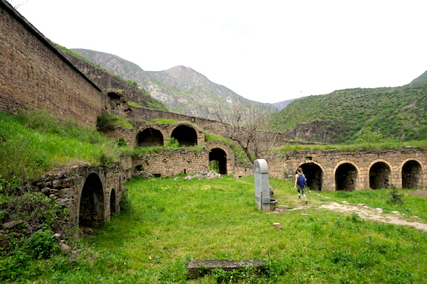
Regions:
<instances>
[{"instance_id":1,"label":"green shrub-covered hill behind the four-arched wall on the right","mask_svg":"<svg viewBox=\"0 0 427 284\"><path fill-rule=\"evenodd\" d=\"M274 115L273 127L295 138L354 141L365 131L396 141L427 139L427 86L344 89L295 99ZM297 129L297 131L290 131Z\"/></svg>"}]
</instances>

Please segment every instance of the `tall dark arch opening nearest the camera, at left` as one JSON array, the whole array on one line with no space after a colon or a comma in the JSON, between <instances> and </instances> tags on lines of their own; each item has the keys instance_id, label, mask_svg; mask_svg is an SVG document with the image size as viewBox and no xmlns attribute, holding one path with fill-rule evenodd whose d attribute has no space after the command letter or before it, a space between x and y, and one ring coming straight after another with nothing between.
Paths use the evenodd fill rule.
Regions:
<instances>
[{"instance_id":1,"label":"tall dark arch opening nearest the camera, at left","mask_svg":"<svg viewBox=\"0 0 427 284\"><path fill-rule=\"evenodd\" d=\"M91 227L104 222L104 195L100 177L91 173L86 178L80 196L80 227Z\"/></svg>"}]
</instances>

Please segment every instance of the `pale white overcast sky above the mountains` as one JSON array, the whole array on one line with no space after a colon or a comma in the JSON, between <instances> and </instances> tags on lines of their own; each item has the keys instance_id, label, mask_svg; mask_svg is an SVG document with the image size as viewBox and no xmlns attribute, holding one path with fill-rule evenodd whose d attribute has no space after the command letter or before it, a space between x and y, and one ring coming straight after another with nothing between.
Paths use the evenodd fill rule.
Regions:
<instances>
[{"instance_id":1,"label":"pale white overcast sky above the mountains","mask_svg":"<svg viewBox=\"0 0 427 284\"><path fill-rule=\"evenodd\" d=\"M426 0L9 0L65 48L184 65L257 102L396 87L427 70Z\"/></svg>"}]
</instances>

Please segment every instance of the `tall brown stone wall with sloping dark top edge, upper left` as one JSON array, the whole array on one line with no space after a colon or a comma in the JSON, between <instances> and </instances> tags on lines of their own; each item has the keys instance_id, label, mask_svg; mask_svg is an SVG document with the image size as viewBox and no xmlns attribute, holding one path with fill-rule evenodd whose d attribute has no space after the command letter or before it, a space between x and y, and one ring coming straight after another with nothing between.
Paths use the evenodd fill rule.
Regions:
<instances>
[{"instance_id":1,"label":"tall brown stone wall with sloping dark top edge, upper left","mask_svg":"<svg viewBox=\"0 0 427 284\"><path fill-rule=\"evenodd\" d=\"M95 127L107 96L11 6L0 1L0 111L48 109Z\"/></svg>"}]
</instances>

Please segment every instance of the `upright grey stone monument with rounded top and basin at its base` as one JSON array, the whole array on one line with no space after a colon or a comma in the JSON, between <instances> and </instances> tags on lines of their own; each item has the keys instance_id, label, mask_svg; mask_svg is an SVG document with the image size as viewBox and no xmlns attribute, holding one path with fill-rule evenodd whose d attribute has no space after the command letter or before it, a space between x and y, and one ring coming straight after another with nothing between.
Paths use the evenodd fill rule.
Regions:
<instances>
[{"instance_id":1,"label":"upright grey stone monument with rounded top and basin at its base","mask_svg":"<svg viewBox=\"0 0 427 284\"><path fill-rule=\"evenodd\" d=\"M255 178L255 204L265 212L274 211L277 200L272 200L270 197L268 165L264 159L255 160L253 175Z\"/></svg>"}]
</instances>

